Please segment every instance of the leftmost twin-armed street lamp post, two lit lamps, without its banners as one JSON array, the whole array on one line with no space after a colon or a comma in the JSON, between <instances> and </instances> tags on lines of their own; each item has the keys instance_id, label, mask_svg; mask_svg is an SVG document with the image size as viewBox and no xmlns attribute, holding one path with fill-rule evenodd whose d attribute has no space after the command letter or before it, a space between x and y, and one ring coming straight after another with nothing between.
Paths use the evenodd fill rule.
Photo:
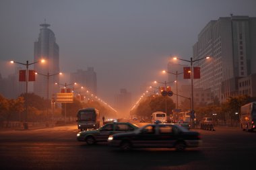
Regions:
<instances>
[{"instance_id":1,"label":"leftmost twin-armed street lamp post, two lit lamps, without its banners","mask_svg":"<svg viewBox=\"0 0 256 170\"><path fill-rule=\"evenodd\" d=\"M25 93L25 107L26 107L26 114L25 114L25 126L24 126L24 129L27 129L28 128L28 66L30 65L34 65L36 64L38 61L36 62L31 62L31 63L28 63L28 60L26 61L26 63L22 63L22 62L16 62L14 60L11 60L11 63L17 63L17 64L20 64L20 65L25 65L26 66L26 93ZM44 60L41 60L41 62L44 62Z\"/></svg>"}]
</instances>

